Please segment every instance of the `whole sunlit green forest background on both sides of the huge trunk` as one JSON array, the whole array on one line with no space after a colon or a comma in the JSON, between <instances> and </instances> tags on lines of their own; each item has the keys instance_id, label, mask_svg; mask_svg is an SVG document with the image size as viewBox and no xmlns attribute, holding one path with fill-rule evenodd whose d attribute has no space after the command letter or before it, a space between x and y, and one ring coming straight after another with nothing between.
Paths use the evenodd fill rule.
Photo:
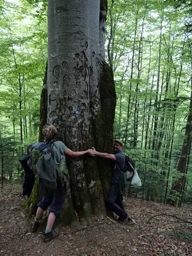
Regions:
<instances>
[{"instance_id":1,"label":"whole sunlit green forest background on both sides of the huge trunk","mask_svg":"<svg viewBox=\"0 0 192 256\"><path fill-rule=\"evenodd\" d=\"M106 61L114 72L114 138L142 180L126 195L192 204L191 1L109 0ZM0 166L22 176L20 156L38 141L47 62L47 3L0 0ZM4 179L3 179L4 177Z\"/></svg>"}]
</instances>

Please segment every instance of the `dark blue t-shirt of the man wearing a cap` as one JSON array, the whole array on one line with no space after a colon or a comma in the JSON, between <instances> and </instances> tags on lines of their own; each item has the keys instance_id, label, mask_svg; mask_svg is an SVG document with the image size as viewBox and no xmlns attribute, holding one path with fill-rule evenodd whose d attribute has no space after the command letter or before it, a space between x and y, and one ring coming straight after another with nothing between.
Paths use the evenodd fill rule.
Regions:
<instances>
[{"instance_id":1,"label":"dark blue t-shirt of the man wearing a cap","mask_svg":"<svg viewBox=\"0 0 192 256\"><path fill-rule=\"evenodd\" d=\"M124 171L125 167L125 156L122 151L114 154L116 161L115 166L113 167L113 173L111 177L111 182L118 183L118 179L120 178L121 171Z\"/></svg>"}]
</instances>

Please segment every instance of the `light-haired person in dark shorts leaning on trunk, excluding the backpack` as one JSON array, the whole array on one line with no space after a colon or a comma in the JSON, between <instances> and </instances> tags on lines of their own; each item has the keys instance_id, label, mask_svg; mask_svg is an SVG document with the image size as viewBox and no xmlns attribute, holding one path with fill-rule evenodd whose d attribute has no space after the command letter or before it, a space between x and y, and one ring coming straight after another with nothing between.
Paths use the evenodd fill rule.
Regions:
<instances>
[{"instance_id":1,"label":"light-haired person in dark shorts leaning on trunk, excluding the backpack","mask_svg":"<svg viewBox=\"0 0 192 256\"><path fill-rule=\"evenodd\" d=\"M67 148L67 146L62 141L56 141L58 131L54 125L47 124L43 128L43 134L45 136L45 144L52 144L51 146L51 156L54 159L54 162L59 166L60 170L66 170L65 168L65 155L71 157L79 157L84 154L92 155L93 150L88 149L85 151L74 152ZM32 152L33 150L31 150ZM32 157L33 158L33 157ZM52 171L53 172L53 171ZM38 209L36 211L35 220L33 221L32 231L36 232L40 225L40 218L44 211L47 210L49 205L51 205L49 210L49 217L47 220L47 227L44 234L44 242L50 241L54 237L58 236L59 229L52 229L56 216L61 212L63 202L65 202L65 186L61 180L57 180L56 191L44 195L42 200L38 203Z\"/></svg>"}]
</instances>

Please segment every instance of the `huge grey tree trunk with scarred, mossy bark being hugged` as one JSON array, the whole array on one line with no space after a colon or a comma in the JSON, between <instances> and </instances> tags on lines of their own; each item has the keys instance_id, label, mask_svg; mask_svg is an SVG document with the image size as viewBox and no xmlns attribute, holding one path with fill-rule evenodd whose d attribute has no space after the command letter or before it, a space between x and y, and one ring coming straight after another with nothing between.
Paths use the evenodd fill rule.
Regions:
<instances>
[{"instance_id":1,"label":"huge grey tree trunk with scarred, mossy bark being hugged","mask_svg":"<svg viewBox=\"0 0 192 256\"><path fill-rule=\"evenodd\" d=\"M110 152L112 148L116 94L113 72L104 61L106 10L106 1L48 1L47 90L44 86L40 128L47 116L74 151L95 147ZM79 220L105 214L109 161L68 157L67 165L70 186L62 215L68 221L63 221L72 221L75 211Z\"/></svg>"}]
</instances>

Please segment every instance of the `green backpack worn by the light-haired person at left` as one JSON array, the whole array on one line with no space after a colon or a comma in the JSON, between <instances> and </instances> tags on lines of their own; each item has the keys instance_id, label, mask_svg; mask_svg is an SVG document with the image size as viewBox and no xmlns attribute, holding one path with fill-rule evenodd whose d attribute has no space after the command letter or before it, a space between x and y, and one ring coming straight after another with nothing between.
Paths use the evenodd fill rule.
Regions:
<instances>
[{"instance_id":1,"label":"green backpack worn by the light-haired person at left","mask_svg":"<svg viewBox=\"0 0 192 256\"><path fill-rule=\"evenodd\" d=\"M38 181L39 193L42 196L56 191L58 180L63 179L63 173L51 155L53 145L56 147L54 141L40 142L35 143L31 148L33 172Z\"/></svg>"}]
</instances>

